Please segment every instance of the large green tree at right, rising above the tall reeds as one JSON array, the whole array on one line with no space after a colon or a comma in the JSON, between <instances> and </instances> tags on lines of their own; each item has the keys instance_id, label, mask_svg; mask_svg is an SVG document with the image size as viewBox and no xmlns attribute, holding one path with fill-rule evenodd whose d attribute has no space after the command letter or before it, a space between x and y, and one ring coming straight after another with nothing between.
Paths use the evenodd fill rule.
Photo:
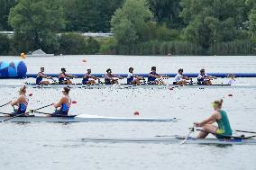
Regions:
<instances>
[{"instance_id":1,"label":"large green tree at right, rising above the tall reeds","mask_svg":"<svg viewBox=\"0 0 256 170\"><path fill-rule=\"evenodd\" d=\"M243 0L181 0L181 6L180 16L187 25L185 39L205 49L235 40L246 19Z\"/></svg>"}]
</instances>

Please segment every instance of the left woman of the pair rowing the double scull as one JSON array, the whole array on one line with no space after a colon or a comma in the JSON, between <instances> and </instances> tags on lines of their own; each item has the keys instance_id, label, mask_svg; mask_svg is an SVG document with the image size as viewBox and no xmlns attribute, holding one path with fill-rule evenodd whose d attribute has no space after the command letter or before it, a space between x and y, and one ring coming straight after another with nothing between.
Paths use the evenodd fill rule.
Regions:
<instances>
[{"instance_id":1,"label":"left woman of the pair rowing the double scull","mask_svg":"<svg viewBox=\"0 0 256 170\"><path fill-rule=\"evenodd\" d=\"M11 101L11 105L18 106L18 109L14 109L14 115L24 114L27 110L29 100L26 97L26 86L23 85L19 90L19 97L15 101Z\"/></svg>"}]
</instances>

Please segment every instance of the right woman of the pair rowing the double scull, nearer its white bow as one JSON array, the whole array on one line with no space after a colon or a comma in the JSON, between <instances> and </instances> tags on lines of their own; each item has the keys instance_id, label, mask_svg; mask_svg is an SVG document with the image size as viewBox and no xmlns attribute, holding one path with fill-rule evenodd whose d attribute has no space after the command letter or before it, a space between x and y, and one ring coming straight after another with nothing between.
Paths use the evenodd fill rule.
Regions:
<instances>
[{"instance_id":1,"label":"right woman of the pair rowing the double scull, nearer its white bow","mask_svg":"<svg viewBox=\"0 0 256 170\"><path fill-rule=\"evenodd\" d=\"M71 99L69 97L69 87L64 87L62 89L63 96L60 98L59 103L54 103L53 106L56 108L56 111L53 113L53 115L64 115L67 116L69 113L69 108L71 105ZM59 110L57 110L59 108Z\"/></svg>"}]
</instances>

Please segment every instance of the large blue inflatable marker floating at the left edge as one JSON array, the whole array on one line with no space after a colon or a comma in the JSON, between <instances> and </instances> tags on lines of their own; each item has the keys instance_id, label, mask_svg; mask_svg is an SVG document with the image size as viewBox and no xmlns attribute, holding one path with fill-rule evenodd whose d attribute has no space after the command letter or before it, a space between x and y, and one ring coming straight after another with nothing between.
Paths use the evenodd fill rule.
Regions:
<instances>
[{"instance_id":1,"label":"large blue inflatable marker floating at the left edge","mask_svg":"<svg viewBox=\"0 0 256 170\"><path fill-rule=\"evenodd\" d=\"M23 61L0 61L0 78L23 78L27 66Z\"/></svg>"}]
</instances>

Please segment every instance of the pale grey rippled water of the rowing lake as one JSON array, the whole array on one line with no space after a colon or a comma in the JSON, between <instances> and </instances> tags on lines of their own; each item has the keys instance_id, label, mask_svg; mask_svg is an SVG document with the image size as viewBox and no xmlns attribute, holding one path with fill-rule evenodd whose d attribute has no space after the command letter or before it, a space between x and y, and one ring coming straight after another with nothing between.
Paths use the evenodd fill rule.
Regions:
<instances>
[{"instance_id":1,"label":"pale grey rippled water of the rowing lake","mask_svg":"<svg viewBox=\"0 0 256 170\"><path fill-rule=\"evenodd\" d=\"M2 57L5 58L5 57ZM82 59L87 58L87 63ZM14 58L6 58L14 60ZM65 59L65 60L63 60ZM44 66L48 73L67 67L71 73L104 73L111 67L115 73L147 73L151 66L160 73L175 72L179 67L197 72L256 72L255 57L112 57L67 56L26 58L29 73ZM29 80L0 80L24 82ZM80 80L77 80L80 81ZM225 79L217 79L224 82ZM255 79L240 78L239 83L256 84ZM1 88L0 103L17 95L18 88ZM29 89L30 108L59 100L60 89ZM227 96L233 94L232 97ZM176 117L178 122L83 122L83 123L1 123L0 169L256 169L256 146L215 146L87 143L83 138L153 138L160 135L187 135L194 121L206 119L213 111L211 102L224 98L233 129L255 131L255 89L72 89L70 96L78 103L71 114L102 116ZM52 112L46 108L43 112ZM1 112L11 112L9 106ZM194 136L196 134L193 134ZM193 136L192 135L192 136Z\"/></svg>"}]
</instances>

